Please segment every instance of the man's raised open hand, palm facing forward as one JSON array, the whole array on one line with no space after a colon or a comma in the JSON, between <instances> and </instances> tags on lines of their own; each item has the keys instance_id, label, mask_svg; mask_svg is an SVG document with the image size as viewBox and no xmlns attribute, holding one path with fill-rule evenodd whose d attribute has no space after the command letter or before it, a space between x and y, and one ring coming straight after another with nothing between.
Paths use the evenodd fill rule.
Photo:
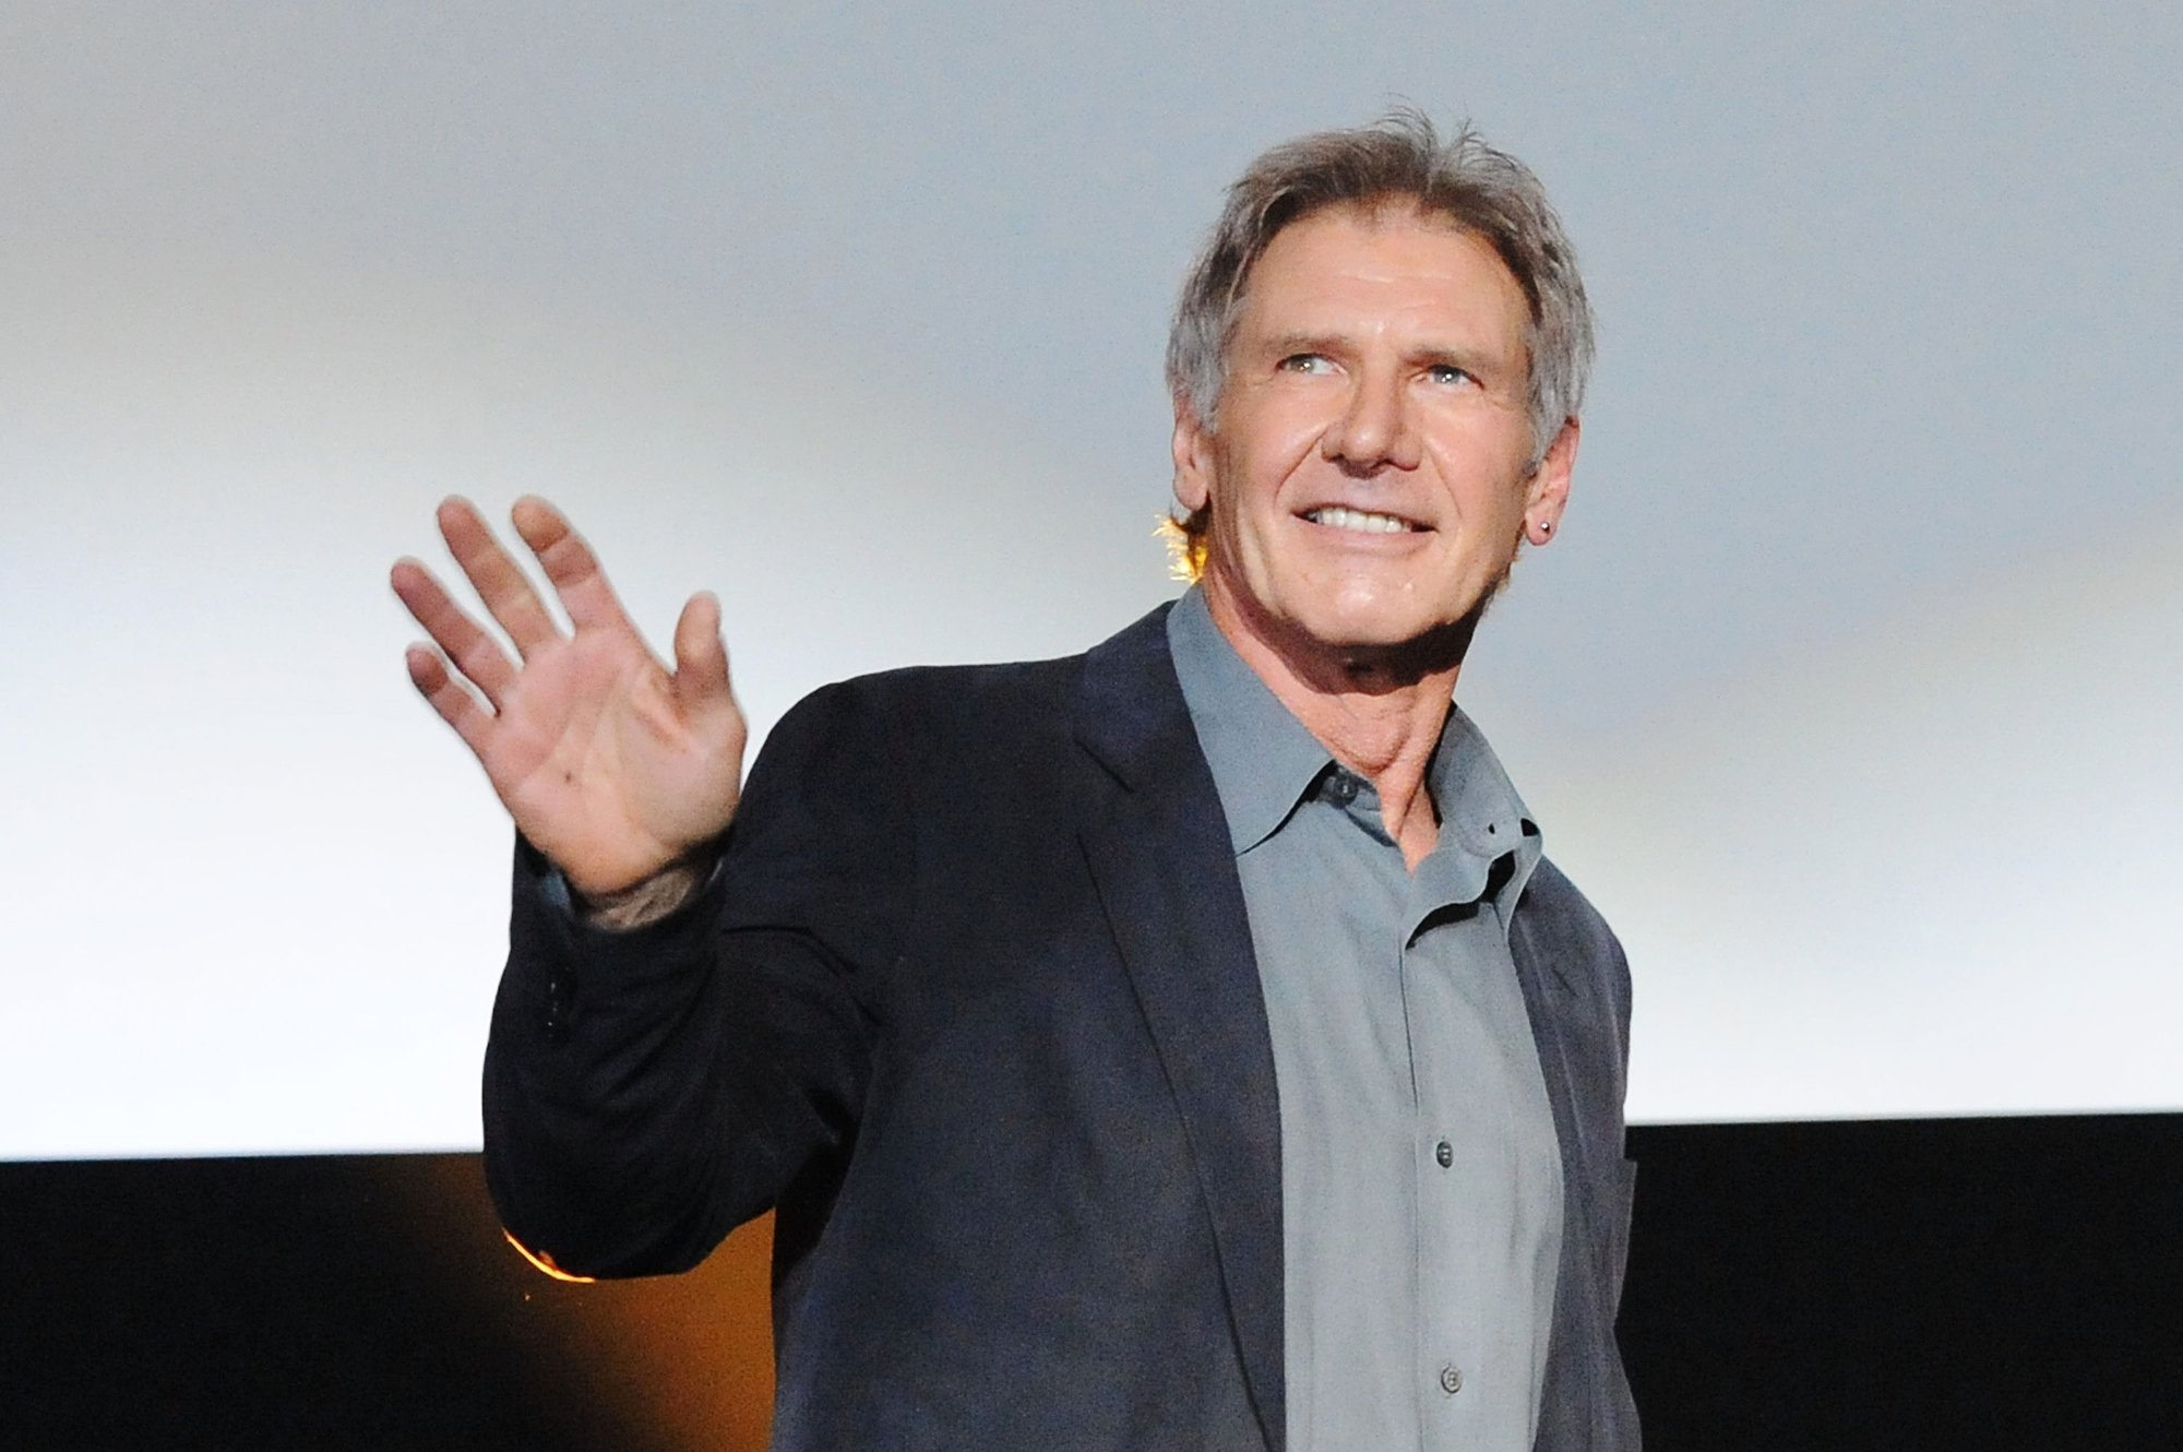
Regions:
<instances>
[{"instance_id":1,"label":"man's raised open hand, palm facing forward","mask_svg":"<svg viewBox=\"0 0 2183 1452\"><path fill-rule=\"evenodd\" d=\"M561 511L522 498L511 517L574 633L561 633L478 511L445 500L439 533L520 662L430 570L402 559L395 594L439 646L408 648L410 681L570 886L611 897L683 862L736 810L747 729L729 692L720 603L690 596L668 673Z\"/></svg>"}]
</instances>

